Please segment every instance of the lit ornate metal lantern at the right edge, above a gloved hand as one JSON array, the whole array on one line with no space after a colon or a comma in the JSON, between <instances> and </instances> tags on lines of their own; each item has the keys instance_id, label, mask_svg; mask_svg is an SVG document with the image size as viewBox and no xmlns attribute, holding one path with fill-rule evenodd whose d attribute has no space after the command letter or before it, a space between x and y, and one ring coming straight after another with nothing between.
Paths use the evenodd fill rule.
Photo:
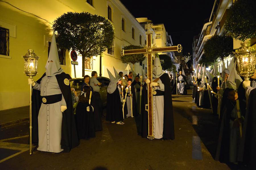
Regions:
<instances>
[{"instance_id":1,"label":"lit ornate metal lantern at the right edge, above a gloved hand","mask_svg":"<svg viewBox=\"0 0 256 170\"><path fill-rule=\"evenodd\" d=\"M256 50L250 47L249 42L241 43L241 47L236 52L238 74L249 80L255 72Z\"/></svg>"}]
</instances>

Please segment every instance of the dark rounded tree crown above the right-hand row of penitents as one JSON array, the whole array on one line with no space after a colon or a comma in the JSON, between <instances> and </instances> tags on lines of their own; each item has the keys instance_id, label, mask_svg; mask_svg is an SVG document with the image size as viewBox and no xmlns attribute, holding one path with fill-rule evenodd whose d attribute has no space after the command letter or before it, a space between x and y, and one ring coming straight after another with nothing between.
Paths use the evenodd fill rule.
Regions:
<instances>
[{"instance_id":1,"label":"dark rounded tree crown above the right-hand row of penitents","mask_svg":"<svg viewBox=\"0 0 256 170\"><path fill-rule=\"evenodd\" d=\"M205 62L214 63L218 57L223 60L224 57L233 52L233 38L225 35L214 35L205 42L204 51Z\"/></svg>"}]
</instances>

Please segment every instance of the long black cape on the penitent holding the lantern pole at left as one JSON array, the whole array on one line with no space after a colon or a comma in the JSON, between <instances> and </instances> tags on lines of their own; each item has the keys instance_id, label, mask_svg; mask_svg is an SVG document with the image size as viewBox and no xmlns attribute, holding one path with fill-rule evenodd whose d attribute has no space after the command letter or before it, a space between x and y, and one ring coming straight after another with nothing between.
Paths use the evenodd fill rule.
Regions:
<instances>
[{"instance_id":1,"label":"long black cape on the penitent holding the lantern pole at left","mask_svg":"<svg viewBox=\"0 0 256 170\"><path fill-rule=\"evenodd\" d=\"M40 83L41 79L46 76L44 75L36 81ZM77 136L75 117L73 113L73 103L71 96L70 85L65 85L64 79L69 78L66 73L57 74L57 82L61 93L66 101L67 109L62 113L62 124L61 124L61 149L64 152L69 152L72 148L79 145L79 140ZM40 91L32 91L32 143L38 143L38 113L42 104L42 99L40 97Z\"/></svg>"}]
</instances>

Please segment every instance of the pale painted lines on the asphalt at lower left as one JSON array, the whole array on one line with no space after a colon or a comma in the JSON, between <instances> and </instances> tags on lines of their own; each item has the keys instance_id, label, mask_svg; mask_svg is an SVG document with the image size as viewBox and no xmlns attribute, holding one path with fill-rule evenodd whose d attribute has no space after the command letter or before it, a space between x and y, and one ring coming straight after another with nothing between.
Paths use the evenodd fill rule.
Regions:
<instances>
[{"instance_id":1,"label":"pale painted lines on the asphalt at lower left","mask_svg":"<svg viewBox=\"0 0 256 170\"><path fill-rule=\"evenodd\" d=\"M21 153L26 152L27 150L29 150L29 145L26 145L26 144L3 142L3 141L13 140L13 139L19 139L19 138L22 138L22 137L28 137L28 135L19 136L19 137L12 137L12 138L9 138L9 139L2 139L2 140L0 140L0 148L12 149L12 150L20 150L20 152L17 152L15 154L11 155L11 156L8 156L8 157L0 160L0 163L4 162L4 161L6 161L6 160L8 160L10 158L13 158L13 157L17 156L18 154L21 154Z\"/></svg>"}]
</instances>

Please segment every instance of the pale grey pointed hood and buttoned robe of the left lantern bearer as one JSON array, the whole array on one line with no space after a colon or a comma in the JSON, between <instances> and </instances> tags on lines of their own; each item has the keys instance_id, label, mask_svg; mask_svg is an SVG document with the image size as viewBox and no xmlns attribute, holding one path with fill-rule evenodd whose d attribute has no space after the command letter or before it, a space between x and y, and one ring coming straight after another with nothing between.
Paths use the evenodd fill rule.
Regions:
<instances>
[{"instance_id":1,"label":"pale grey pointed hood and buttoned robe of the left lantern bearer","mask_svg":"<svg viewBox=\"0 0 256 170\"><path fill-rule=\"evenodd\" d=\"M46 76L40 83L33 87L40 91L41 96L62 94L56 79L57 74L64 72L59 64L58 51L53 32L49 57L46 63ZM69 83L69 81L67 82ZM38 114L38 149L46 152L61 152L61 105L67 106L62 95L62 100L53 104L41 104Z\"/></svg>"}]
</instances>

